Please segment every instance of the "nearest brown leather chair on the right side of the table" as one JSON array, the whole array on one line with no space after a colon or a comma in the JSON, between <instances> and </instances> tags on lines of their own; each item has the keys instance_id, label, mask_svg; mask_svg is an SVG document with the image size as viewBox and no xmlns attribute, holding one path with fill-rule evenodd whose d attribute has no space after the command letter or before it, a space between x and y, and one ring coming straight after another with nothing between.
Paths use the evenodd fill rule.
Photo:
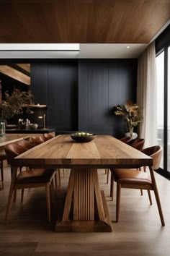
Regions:
<instances>
[{"instance_id":1,"label":"nearest brown leather chair on the right side of the table","mask_svg":"<svg viewBox=\"0 0 170 256\"><path fill-rule=\"evenodd\" d=\"M127 189L146 189L148 190L148 196L152 205L150 190L153 190L156 202L158 205L158 212L161 218L162 226L164 223L164 216L161 210L161 202L158 197L158 190L156 187L156 181L153 174L153 170L156 170L160 166L162 147L156 145L150 148L142 150L143 153L153 158L153 168L150 168L150 174L146 171L138 171L135 169L114 169L111 170L113 179L117 182L117 199L116 199L116 221L120 218L120 192L122 188Z\"/></svg>"}]
</instances>

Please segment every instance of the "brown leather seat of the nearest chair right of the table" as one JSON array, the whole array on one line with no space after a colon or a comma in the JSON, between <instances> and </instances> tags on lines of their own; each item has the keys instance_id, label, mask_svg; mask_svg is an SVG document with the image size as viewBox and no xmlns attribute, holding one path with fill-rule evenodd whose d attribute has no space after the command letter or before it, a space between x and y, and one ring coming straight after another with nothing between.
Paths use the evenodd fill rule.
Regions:
<instances>
[{"instance_id":1,"label":"brown leather seat of the nearest chair right of the table","mask_svg":"<svg viewBox=\"0 0 170 256\"><path fill-rule=\"evenodd\" d=\"M115 169L115 182L130 184L151 184L151 176L136 169Z\"/></svg>"}]
</instances>

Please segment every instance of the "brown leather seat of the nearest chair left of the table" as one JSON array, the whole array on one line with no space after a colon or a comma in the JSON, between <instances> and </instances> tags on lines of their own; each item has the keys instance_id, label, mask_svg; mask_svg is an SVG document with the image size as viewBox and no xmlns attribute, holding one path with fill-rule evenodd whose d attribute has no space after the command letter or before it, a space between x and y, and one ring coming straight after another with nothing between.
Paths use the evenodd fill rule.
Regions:
<instances>
[{"instance_id":1,"label":"brown leather seat of the nearest chair left of the table","mask_svg":"<svg viewBox=\"0 0 170 256\"><path fill-rule=\"evenodd\" d=\"M55 172L56 170L53 168L35 168L22 171L17 176L17 184L50 182Z\"/></svg>"}]
</instances>

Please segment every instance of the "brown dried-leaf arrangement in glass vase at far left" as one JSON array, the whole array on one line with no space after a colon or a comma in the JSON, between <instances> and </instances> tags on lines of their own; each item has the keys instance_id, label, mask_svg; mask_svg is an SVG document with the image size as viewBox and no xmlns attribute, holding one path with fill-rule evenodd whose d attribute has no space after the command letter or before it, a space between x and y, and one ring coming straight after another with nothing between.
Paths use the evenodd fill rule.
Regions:
<instances>
[{"instance_id":1,"label":"brown dried-leaf arrangement in glass vase at far left","mask_svg":"<svg viewBox=\"0 0 170 256\"><path fill-rule=\"evenodd\" d=\"M8 92L5 93L4 101L0 102L0 136L5 133L5 123L7 119L11 119L17 114L22 114L22 106L29 105L32 102L32 93L20 91L16 88L9 95Z\"/></svg>"}]
</instances>

